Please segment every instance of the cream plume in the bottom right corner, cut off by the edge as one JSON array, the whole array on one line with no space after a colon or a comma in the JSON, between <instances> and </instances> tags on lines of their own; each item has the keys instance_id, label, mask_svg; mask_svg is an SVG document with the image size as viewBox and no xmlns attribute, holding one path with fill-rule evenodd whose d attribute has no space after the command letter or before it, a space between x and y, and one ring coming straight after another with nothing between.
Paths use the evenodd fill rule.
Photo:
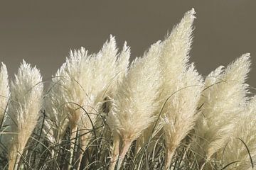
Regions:
<instances>
[{"instance_id":1,"label":"cream plume in the bottom right corner, cut off by the edge","mask_svg":"<svg viewBox=\"0 0 256 170\"><path fill-rule=\"evenodd\" d=\"M233 137L228 141L225 150L220 150L218 153L218 159L223 161L223 165L234 162L228 166L228 169L252 169L250 156L252 160L256 159L255 116L256 96L251 98L241 113L238 113L238 122L235 123ZM247 149L249 149L250 155Z\"/></svg>"}]
</instances>

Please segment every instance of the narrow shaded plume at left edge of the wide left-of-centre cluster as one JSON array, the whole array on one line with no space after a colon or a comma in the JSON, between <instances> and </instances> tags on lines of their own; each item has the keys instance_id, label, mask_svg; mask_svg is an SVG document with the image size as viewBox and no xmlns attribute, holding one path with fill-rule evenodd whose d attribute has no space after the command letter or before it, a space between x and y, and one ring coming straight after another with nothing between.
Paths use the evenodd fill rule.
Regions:
<instances>
[{"instance_id":1,"label":"narrow shaded plume at left edge of the wide left-of-centre cluster","mask_svg":"<svg viewBox=\"0 0 256 170\"><path fill-rule=\"evenodd\" d=\"M66 67L64 63L52 78L52 84L43 100L43 108L46 111L46 121L44 122L43 132L46 139L52 144L58 144L63 138L64 132L68 126L68 115L65 107L65 96L63 84L65 77L63 72Z\"/></svg>"}]
</instances>

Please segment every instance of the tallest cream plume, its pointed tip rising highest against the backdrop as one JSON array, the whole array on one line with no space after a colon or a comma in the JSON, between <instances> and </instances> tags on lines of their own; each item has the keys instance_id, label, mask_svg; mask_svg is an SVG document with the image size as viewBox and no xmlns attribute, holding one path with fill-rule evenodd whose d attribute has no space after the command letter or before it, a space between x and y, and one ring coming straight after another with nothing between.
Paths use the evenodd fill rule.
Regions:
<instances>
[{"instance_id":1,"label":"tallest cream plume, its pointed tip rising highest against the backdrop","mask_svg":"<svg viewBox=\"0 0 256 170\"><path fill-rule=\"evenodd\" d=\"M171 73L181 74L185 71L188 59L189 51L191 50L193 21L196 18L195 10L185 13L181 22L171 31L171 34L164 40L164 47L160 57L161 74L165 77L163 88L165 93L169 95L170 83L174 81L174 77L171 77ZM171 90L172 91L172 90Z\"/></svg>"}]
</instances>

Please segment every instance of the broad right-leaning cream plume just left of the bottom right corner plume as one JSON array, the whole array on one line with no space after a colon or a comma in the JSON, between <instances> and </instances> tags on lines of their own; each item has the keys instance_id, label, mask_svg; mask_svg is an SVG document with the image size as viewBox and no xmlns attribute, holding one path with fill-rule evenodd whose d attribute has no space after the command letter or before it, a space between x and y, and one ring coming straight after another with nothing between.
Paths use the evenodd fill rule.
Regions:
<instances>
[{"instance_id":1,"label":"broad right-leaning cream plume just left of the bottom right corner plume","mask_svg":"<svg viewBox=\"0 0 256 170\"><path fill-rule=\"evenodd\" d=\"M200 157L209 160L230 139L235 121L247 100L245 79L250 70L250 54L242 55L235 62L218 67L206 77L199 106L202 114L196 123L196 137ZM200 146L200 147L199 147ZM203 160L199 158L203 163Z\"/></svg>"}]
</instances>

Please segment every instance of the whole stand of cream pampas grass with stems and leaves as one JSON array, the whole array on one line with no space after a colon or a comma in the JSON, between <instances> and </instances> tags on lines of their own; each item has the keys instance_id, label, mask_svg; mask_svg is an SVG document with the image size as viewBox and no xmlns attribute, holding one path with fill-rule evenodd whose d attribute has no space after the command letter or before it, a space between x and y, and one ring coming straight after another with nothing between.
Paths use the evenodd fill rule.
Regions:
<instances>
[{"instance_id":1,"label":"whole stand of cream pampas grass with stems and leaves","mask_svg":"<svg viewBox=\"0 0 256 170\"><path fill-rule=\"evenodd\" d=\"M250 54L203 79L189 62L195 11L131 63L112 35L71 50L43 92L36 67L0 69L0 169L252 169ZM42 106L41 106L42 105Z\"/></svg>"}]
</instances>

